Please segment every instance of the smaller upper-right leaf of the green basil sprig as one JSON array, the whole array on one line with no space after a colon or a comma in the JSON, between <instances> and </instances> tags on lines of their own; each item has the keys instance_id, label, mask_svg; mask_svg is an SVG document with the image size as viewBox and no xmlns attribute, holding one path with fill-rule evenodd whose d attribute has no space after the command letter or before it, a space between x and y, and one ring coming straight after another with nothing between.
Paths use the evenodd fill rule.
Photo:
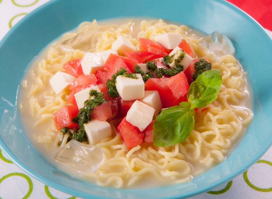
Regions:
<instances>
[{"instance_id":1,"label":"smaller upper-right leaf of the green basil sprig","mask_svg":"<svg viewBox=\"0 0 272 199\"><path fill-rule=\"evenodd\" d=\"M190 85L187 93L188 102L192 104L191 109L204 108L217 99L221 83L222 74L219 69L212 69L200 74L196 81ZM200 99L202 103L199 103L199 100L196 103L194 101L196 99ZM198 104L201 105L198 106Z\"/></svg>"}]
</instances>

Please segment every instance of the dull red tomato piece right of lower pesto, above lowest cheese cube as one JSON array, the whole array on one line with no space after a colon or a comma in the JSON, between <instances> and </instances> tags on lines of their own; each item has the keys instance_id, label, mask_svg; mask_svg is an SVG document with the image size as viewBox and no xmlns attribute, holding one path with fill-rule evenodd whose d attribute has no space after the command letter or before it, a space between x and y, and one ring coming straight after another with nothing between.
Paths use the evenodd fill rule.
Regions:
<instances>
[{"instance_id":1,"label":"dull red tomato piece right of lower pesto, above lowest cheese cube","mask_svg":"<svg viewBox=\"0 0 272 199\"><path fill-rule=\"evenodd\" d=\"M94 117L98 120L105 121L108 118L112 117L112 101L108 101L105 103L96 106L93 111L91 117Z\"/></svg>"}]
</instances>

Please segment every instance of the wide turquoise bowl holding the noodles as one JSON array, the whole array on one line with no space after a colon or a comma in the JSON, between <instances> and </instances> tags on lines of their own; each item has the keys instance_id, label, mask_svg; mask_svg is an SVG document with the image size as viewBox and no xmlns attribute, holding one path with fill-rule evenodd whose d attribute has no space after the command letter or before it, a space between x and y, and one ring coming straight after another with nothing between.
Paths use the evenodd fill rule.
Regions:
<instances>
[{"instance_id":1,"label":"wide turquoise bowl holding the noodles","mask_svg":"<svg viewBox=\"0 0 272 199\"><path fill-rule=\"evenodd\" d=\"M248 72L254 119L225 161L192 181L154 189L115 189L79 181L48 163L28 141L16 109L18 85L33 58L52 40L83 21L154 17L231 38L235 56ZM209 191L246 171L272 143L272 39L254 19L223 0L73 1L52 0L11 28L0 42L0 146L40 182L82 198L184 198Z\"/></svg>"}]
</instances>

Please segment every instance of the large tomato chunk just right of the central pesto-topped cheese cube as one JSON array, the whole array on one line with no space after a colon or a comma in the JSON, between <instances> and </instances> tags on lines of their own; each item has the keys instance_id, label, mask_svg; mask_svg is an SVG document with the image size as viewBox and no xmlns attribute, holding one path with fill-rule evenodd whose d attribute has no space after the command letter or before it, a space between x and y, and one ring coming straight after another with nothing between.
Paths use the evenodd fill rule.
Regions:
<instances>
[{"instance_id":1,"label":"large tomato chunk just right of the central pesto-topped cheese cube","mask_svg":"<svg viewBox=\"0 0 272 199\"><path fill-rule=\"evenodd\" d=\"M179 99L173 95L170 88L167 86L166 82L169 78L149 78L144 84L145 90L157 90L160 95L160 100L163 108L168 108L170 106L179 105L180 102L187 101L186 96L182 96Z\"/></svg>"}]
</instances>

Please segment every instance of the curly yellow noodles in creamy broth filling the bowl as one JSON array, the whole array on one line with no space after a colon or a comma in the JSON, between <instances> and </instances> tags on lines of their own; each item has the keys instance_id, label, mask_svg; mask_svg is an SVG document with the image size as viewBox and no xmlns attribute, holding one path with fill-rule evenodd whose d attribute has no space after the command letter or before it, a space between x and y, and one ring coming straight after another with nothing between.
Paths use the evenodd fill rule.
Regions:
<instances>
[{"instance_id":1,"label":"curly yellow noodles in creamy broth filling the bowl","mask_svg":"<svg viewBox=\"0 0 272 199\"><path fill-rule=\"evenodd\" d=\"M149 137L149 141L148 139L145 139L147 137L146 125L141 131L138 131L138 129L142 128L140 125L137 127L137 132L139 133L139 139L142 139L141 143L139 145L136 144L135 146L133 144L128 145L124 134L122 136L120 135L122 134L120 133L120 122L121 124L123 124L122 122L126 122L124 117L129 109L127 108L125 110L125 105L123 103L124 101L129 102L131 99L123 100L123 96L120 97L121 92L119 92L118 97L113 97L115 101L109 100L111 101L111 107L115 105L115 108L118 109L118 111L115 109L114 112L112 108L112 116L107 119L111 133L108 136L102 137L98 143L92 144L99 149L98 153L100 154L101 152L101 156L103 156L99 163L93 165L94 169L90 171L88 168L71 168L69 163L57 161L59 159L56 158L56 160L54 157L56 154L60 153L60 149L65 149L69 134L60 132L60 129L56 127L53 114L66 105L72 105L67 101L69 101L69 96L71 96L73 90L71 91L68 87L65 87L56 94L56 91L53 90L50 84L52 77L57 72L63 71L63 65L67 62L78 58L84 59L87 52L100 53L112 49L112 44L120 35L132 43L134 51L141 51L142 53L145 53L145 55L150 55L149 58L151 61L156 61L154 63L156 63L157 66L159 62L164 64L162 59L160 59L161 57L152 59L154 58L152 56L155 53L151 53L152 56L151 54L148 54L148 50L143 49L144 45L140 45L140 38L154 41L154 37L156 38L156 36L167 33L174 33L181 36L191 50L191 59L199 60L202 58L203 62L211 63L212 70L219 70L222 74L222 84L219 85L217 99L205 107L199 105L196 106L195 109L190 109L193 110L191 111L193 116L191 115L190 117L194 118L194 125L193 130L189 132L189 136L185 137L182 142L177 142L169 146L162 147L162 145L160 145L162 143L155 144L157 145L155 146L153 142L150 142L152 136ZM211 53L211 51L203 45L203 37L204 36L201 33L198 33L185 25L167 24L163 20L145 21L133 19L106 21L102 22L100 25L98 25L96 21L93 21L92 23L83 22L75 32L65 33L47 46L45 51L38 56L25 73L24 80L19 89L20 97L18 107L20 110L20 118L28 133L28 137L34 143L37 150L44 154L44 156L57 168L76 178L81 178L101 186L120 188L146 187L146 185L148 185L149 187L154 187L190 181L193 176L200 174L225 159L229 151L235 146L235 143L237 143L238 138L243 135L246 126L253 117L253 114L250 111L251 100L246 72L243 71L238 60L235 59L233 55L225 53L225 49L217 49L217 52ZM149 40L146 41L148 43ZM164 48L164 50L169 54L171 53L171 48L172 47L169 47L169 49ZM131 51L133 50L126 50L126 55L122 54L122 51L118 54L123 57L135 56L135 54L129 54ZM186 54L188 53L186 52ZM141 57L142 56L143 54L141 54ZM196 62L196 60L194 60L194 62ZM104 63L105 65L106 62ZM172 72L178 70L176 65L167 67L166 68L171 69ZM105 67L103 68L103 66L98 71L101 71L101 74L103 72L109 72L108 70L105 70ZM134 73L134 71L131 72L132 74ZM151 73L149 74L152 74L153 77L158 76L158 73L155 73L155 70L153 73L152 71L150 72ZM183 73L184 72L178 71L176 72L176 75ZM92 74L94 74L97 79L102 77L98 76L96 71L92 72ZM167 80L169 80L176 75L170 77L169 73L167 73L164 74L163 77L154 79L159 81L159 79L163 80L163 78L168 78ZM112 76L109 75L107 77L111 79ZM138 76L136 78L138 78ZM141 79L141 77L139 78ZM154 79L148 79L145 82L145 90L152 90L147 89L147 84L150 85L148 81L150 82ZM104 80L100 79L99 81L102 81L102 83L99 82L100 86L106 83L105 78ZM174 86L175 83L171 85ZM85 88L94 86L95 85L92 84ZM99 88L101 91L102 87ZM104 93L104 97L106 93ZM162 107L166 109L162 111L160 108L158 113L162 112L158 117L165 115L164 113L167 112L169 106L177 106L183 101L186 101L184 104L188 103L187 101L190 101L186 98L187 93L176 98L175 96L172 96L172 94L171 97L173 98L167 99L174 99L174 101L163 99L163 96L159 93ZM125 94L123 95L125 96ZM183 100L181 100L181 98L183 98ZM142 97L141 99L137 99L137 103L142 103ZM133 100L135 102L136 99ZM131 107L131 104L127 106ZM120 114L121 108L123 108L123 111L125 110L125 113L122 113L123 115ZM154 118L151 119L154 120ZM156 120L157 119L155 119L154 127L157 124ZM149 122L148 125L150 123L151 122ZM149 128L153 131L152 125L149 125ZM156 143L159 142L160 141ZM82 143L86 145L79 144L79 148L82 146L83 148L86 147L88 150L88 145L90 144L89 138L83 140ZM86 166L86 164L84 165Z\"/></svg>"}]
</instances>

